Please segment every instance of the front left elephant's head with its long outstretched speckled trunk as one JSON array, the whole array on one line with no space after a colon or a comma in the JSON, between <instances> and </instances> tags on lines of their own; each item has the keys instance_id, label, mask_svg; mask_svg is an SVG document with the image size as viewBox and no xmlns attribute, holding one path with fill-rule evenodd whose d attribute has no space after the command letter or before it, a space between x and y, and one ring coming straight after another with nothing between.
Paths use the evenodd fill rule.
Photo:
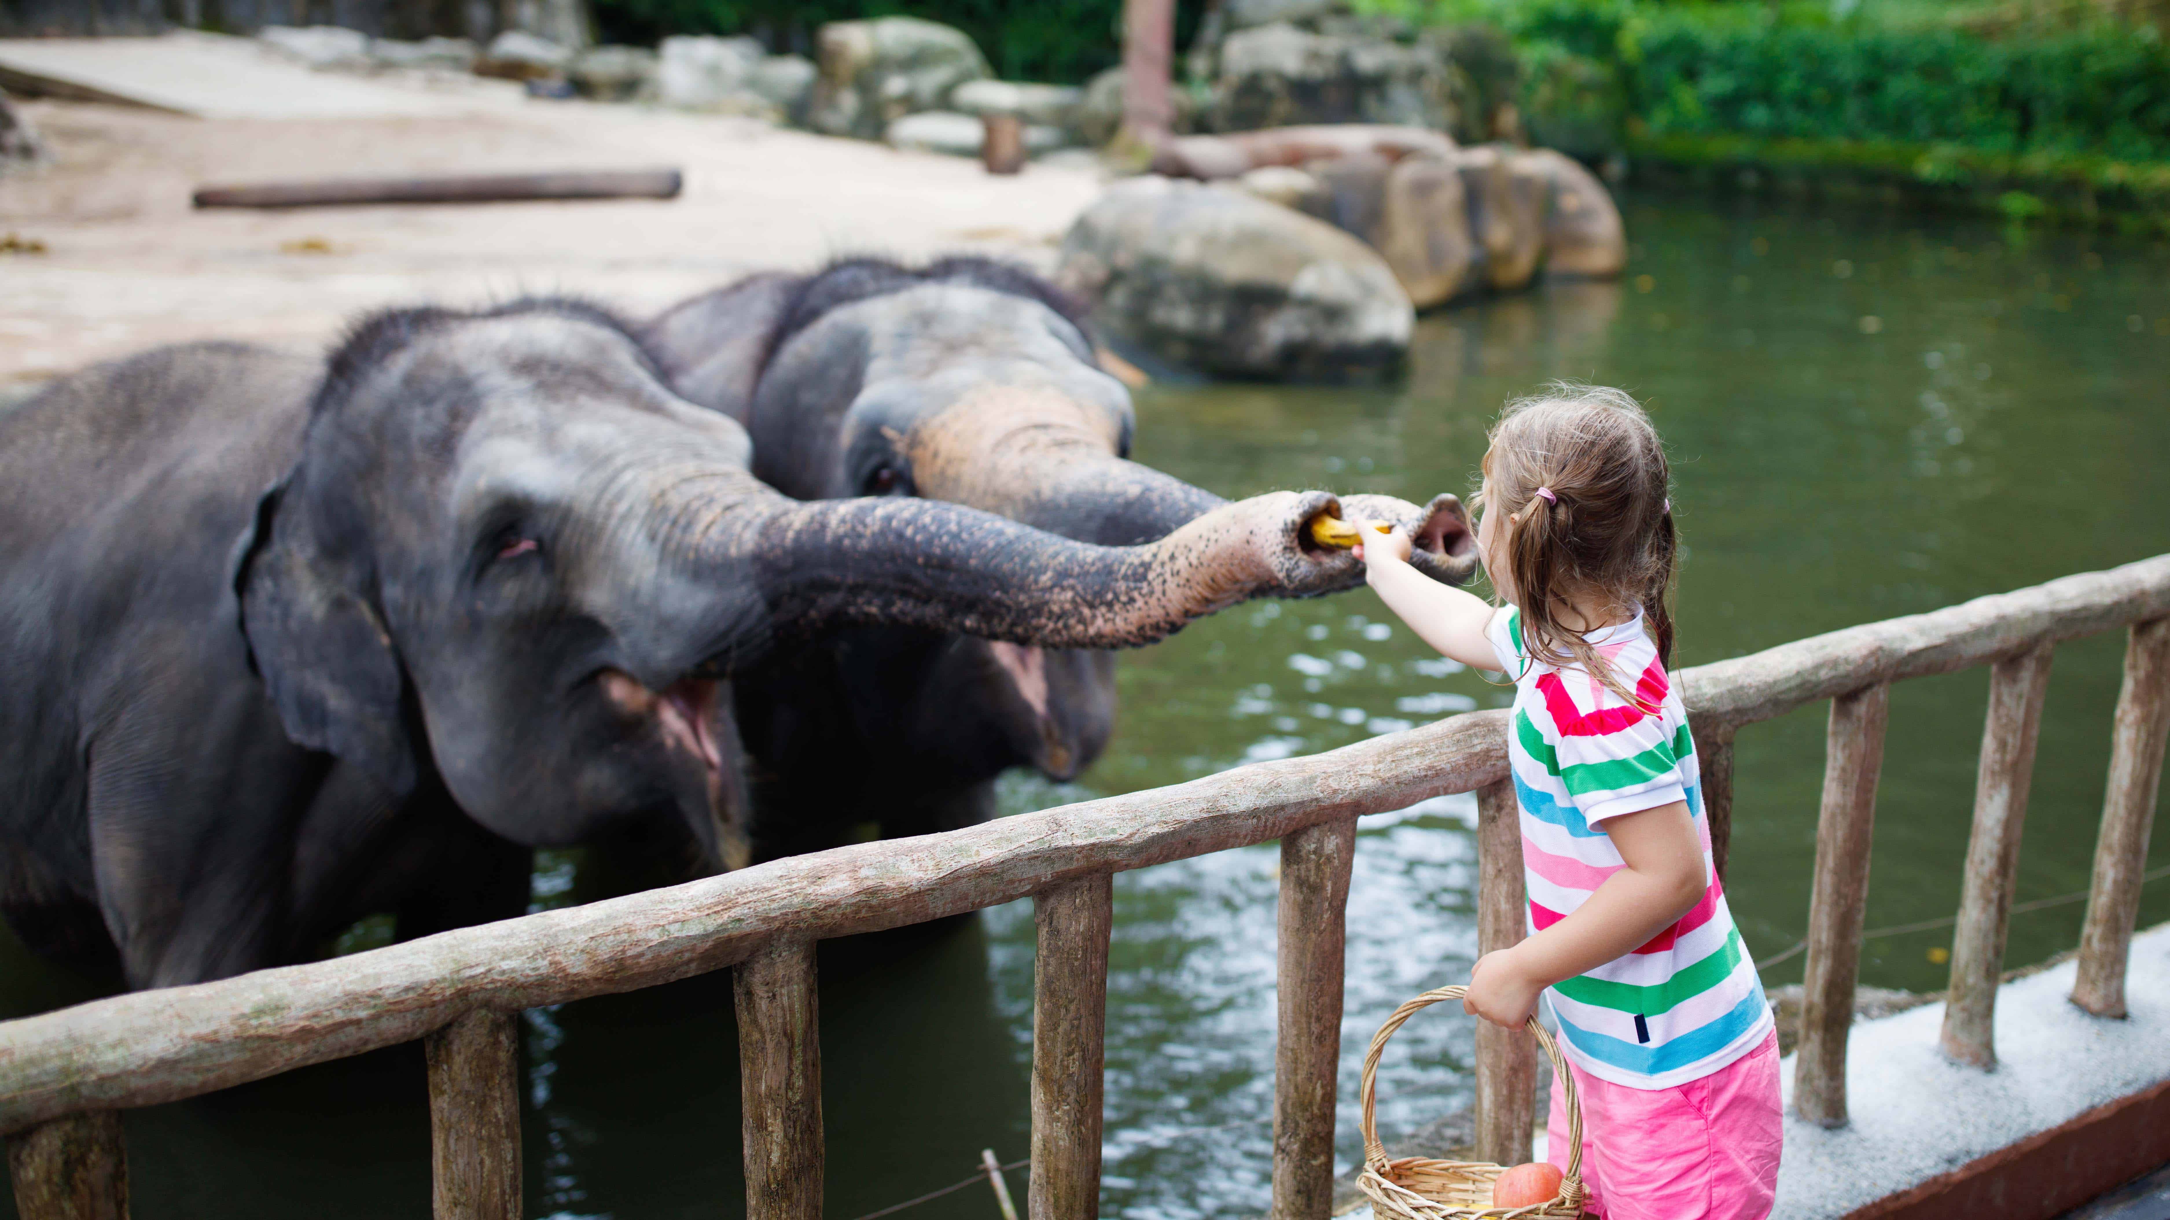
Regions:
<instances>
[{"instance_id":1,"label":"front left elephant's head with its long outstretched speckled trunk","mask_svg":"<svg viewBox=\"0 0 2170 1220\"><path fill-rule=\"evenodd\" d=\"M514 842L662 814L729 866L729 679L779 649L855 625L1124 647L1361 580L1302 543L1324 493L1098 547L950 504L794 501L746 465L744 430L592 306L365 321L237 551L286 734L395 792L441 781Z\"/></svg>"}]
</instances>

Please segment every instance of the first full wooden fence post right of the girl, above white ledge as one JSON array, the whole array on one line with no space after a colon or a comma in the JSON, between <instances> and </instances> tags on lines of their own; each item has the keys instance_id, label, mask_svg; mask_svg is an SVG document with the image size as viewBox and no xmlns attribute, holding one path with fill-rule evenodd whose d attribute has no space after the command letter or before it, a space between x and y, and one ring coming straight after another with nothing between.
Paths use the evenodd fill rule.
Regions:
<instances>
[{"instance_id":1,"label":"first full wooden fence post right of the girl, above white ledge","mask_svg":"<svg viewBox=\"0 0 2170 1220\"><path fill-rule=\"evenodd\" d=\"M1847 1124L1847 1031L1868 910L1868 840L1884 771L1890 686L1831 699L1816 816L1816 888L1808 903L1808 977L1801 981L1801 1053L1792 1109L1818 1127Z\"/></svg>"}]
</instances>

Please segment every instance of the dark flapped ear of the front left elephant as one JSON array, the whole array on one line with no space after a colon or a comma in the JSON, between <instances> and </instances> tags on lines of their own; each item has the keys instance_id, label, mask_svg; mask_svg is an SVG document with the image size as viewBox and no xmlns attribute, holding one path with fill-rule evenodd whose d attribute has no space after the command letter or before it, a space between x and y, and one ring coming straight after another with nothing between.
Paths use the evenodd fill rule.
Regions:
<instances>
[{"instance_id":1,"label":"dark flapped ear of the front left elephant","mask_svg":"<svg viewBox=\"0 0 2170 1220\"><path fill-rule=\"evenodd\" d=\"M286 738L352 762L406 797L414 788L414 742L391 634L365 595L360 564L330 556L299 512L280 512L284 497L284 482L267 491L234 547L250 662Z\"/></svg>"}]
</instances>

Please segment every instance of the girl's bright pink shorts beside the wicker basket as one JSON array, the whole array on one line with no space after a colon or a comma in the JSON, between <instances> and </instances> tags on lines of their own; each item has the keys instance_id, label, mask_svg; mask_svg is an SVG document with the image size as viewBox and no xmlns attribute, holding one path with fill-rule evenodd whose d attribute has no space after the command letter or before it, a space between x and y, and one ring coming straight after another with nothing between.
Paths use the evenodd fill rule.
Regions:
<instances>
[{"instance_id":1,"label":"girl's bright pink shorts beside the wicker basket","mask_svg":"<svg viewBox=\"0 0 2170 1220\"><path fill-rule=\"evenodd\" d=\"M1582 1185L1606 1220L1762 1220L1777 1194L1777 1033L1716 1072L1632 1090L1569 1064L1582 1092ZM1567 1111L1552 1090L1547 1161L1567 1170Z\"/></svg>"}]
</instances>

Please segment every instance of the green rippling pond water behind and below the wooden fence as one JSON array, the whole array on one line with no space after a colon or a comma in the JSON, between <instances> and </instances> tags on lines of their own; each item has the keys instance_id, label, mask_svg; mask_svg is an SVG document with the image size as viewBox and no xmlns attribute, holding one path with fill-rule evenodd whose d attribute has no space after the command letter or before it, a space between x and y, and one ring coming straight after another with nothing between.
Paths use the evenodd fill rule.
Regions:
<instances>
[{"instance_id":1,"label":"green rippling pond water behind and below the wooden fence","mask_svg":"<svg viewBox=\"0 0 2170 1220\"><path fill-rule=\"evenodd\" d=\"M1621 384L1673 452L1684 532L1680 664L1949 606L2170 551L2170 247L2009 234L1951 219L1630 198L1621 284L1549 287L1428 317L1391 389L1157 386L1137 456L1226 495L1282 486L1467 495L1499 404L1552 378ZM2018 899L2083 890L2122 636L2057 651ZM1986 671L1892 692L1868 927L1949 916L1973 801ZM1256 603L1128 656L1122 721L1076 786L1018 777L1009 812L1311 753L1504 692L1428 653L1369 593ZM1823 706L1738 742L1732 907L1749 949L1801 938ZM1473 801L1365 818L1350 897L1343 1168L1356 1057L1408 994L1476 949ZM2155 860L2170 860L2157 836ZM551 855L538 903L566 901ZM1259 1216L1269 1181L1274 847L1115 881L1102 1213ZM2075 944L2081 905L2012 920L2009 964ZM2142 923L2170 918L2170 879ZM1873 936L1862 979L1933 990L1949 929ZM827 1213L853 1220L1026 1151L1033 920L1026 903L825 946ZM1766 970L1799 981L1801 960ZM0 1014L95 983L0 944ZM729 979L532 1012L532 1216L738 1216ZM1469 1101L1471 1029L1426 1016L1380 1075L1406 1133ZM135 1213L421 1216L417 1049L130 1114ZM1024 1190L1024 1172L1011 1174ZM7 1205L0 1205L4 1211ZM985 1185L911 1220L994 1216Z\"/></svg>"}]
</instances>

